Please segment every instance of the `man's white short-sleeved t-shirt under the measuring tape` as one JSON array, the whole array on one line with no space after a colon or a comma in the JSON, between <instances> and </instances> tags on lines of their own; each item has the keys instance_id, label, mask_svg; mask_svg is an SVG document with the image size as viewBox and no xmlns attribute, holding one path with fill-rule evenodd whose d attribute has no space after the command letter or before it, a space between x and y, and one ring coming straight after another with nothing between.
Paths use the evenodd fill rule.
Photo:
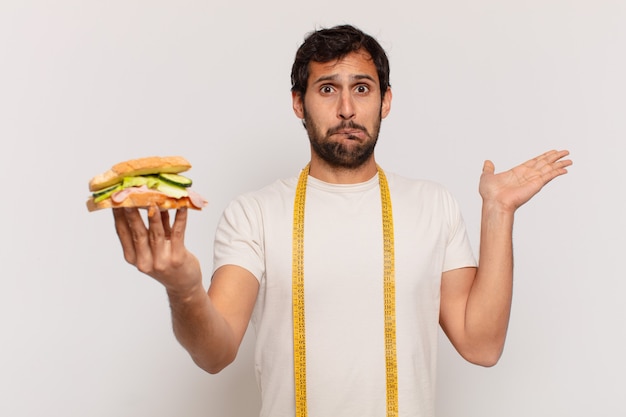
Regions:
<instances>
[{"instance_id":1,"label":"man's white short-sleeved t-shirt under the measuring tape","mask_svg":"<svg viewBox=\"0 0 626 417\"><path fill-rule=\"evenodd\" d=\"M386 174L395 235L399 415L432 417L441 274L475 266L456 201L440 185ZM235 199L214 268L260 282L252 323L261 417L293 417L291 262L297 178ZM385 415L383 230L378 175L359 184L308 178L304 232L310 417Z\"/></svg>"}]
</instances>

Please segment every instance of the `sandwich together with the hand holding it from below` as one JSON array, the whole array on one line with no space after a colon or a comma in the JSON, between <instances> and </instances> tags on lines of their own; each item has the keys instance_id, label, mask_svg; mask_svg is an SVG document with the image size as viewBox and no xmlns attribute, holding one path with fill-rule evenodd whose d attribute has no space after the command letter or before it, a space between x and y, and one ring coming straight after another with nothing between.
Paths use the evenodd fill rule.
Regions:
<instances>
[{"instance_id":1,"label":"sandwich together with the hand holding it from below","mask_svg":"<svg viewBox=\"0 0 626 417\"><path fill-rule=\"evenodd\" d=\"M184 245L187 208L201 210L206 200L181 175L191 164L180 156L151 156L115 164L89 181L87 209L113 209L124 258L155 278L168 292L202 285L198 260ZM146 228L139 208L148 209ZM177 209L170 225L168 210Z\"/></svg>"}]
</instances>

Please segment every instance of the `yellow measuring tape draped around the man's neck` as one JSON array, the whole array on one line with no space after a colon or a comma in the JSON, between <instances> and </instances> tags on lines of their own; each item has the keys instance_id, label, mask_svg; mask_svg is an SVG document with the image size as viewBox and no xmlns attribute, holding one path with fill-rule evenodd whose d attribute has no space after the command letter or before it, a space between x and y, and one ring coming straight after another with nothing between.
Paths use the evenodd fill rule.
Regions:
<instances>
[{"instance_id":1,"label":"yellow measuring tape draped around the man's neck","mask_svg":"<svg viewBox=\"0 0 626 417\"><path fill-rule=\"evenodd\" d=\"M384 240L384 310L385 310L385 367L387 376L387 417L398 415L398 361L396 355L396 284L395 248L391 195L387 177L380 167L378 180L382 202ZM292 304L293 304L293 359L296 417L307 417L306 397L306 334L304 322L304 207L307 165L300 173L293 210Z\"/></svg>"}]
</instances>

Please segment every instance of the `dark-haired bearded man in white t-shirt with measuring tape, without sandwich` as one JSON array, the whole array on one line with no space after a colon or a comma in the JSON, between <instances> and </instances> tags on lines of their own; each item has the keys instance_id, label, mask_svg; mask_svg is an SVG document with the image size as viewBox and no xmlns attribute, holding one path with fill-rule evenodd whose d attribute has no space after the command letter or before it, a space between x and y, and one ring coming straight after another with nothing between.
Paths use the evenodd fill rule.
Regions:
<instances>
[{"instance_id":1,"label":"dark-haired bearded man in white t-shirt with measuring tape, without sandwich","mask_svg":"<svg viewBox=\"0 0 626 417\"><path fill-rule=\"evenodd\" d=\"M438 325L468 361L498 361L515 210L566 173L568 152L499 174L485 162L477 265L446 190L376 164L392 93L373 38L352 26L309 35L292 98L310 164L226 209L208 292L185 210L171 226L151 210L147 228L137 210L114 210L124 256L165 286L176 337L208 372L235 359L252 319L261 416L433 416Z\"/></svg>"}]
</instances>

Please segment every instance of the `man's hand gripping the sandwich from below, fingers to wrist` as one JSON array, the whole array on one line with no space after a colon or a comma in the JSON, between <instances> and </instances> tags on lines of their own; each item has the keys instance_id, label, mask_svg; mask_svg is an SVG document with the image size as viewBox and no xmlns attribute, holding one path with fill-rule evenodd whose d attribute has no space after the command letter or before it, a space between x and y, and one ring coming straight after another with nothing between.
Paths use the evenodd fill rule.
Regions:
<instances>
[{"instance_id":1,"label":"man's hand gripping the sandwich from below, fingers to wrist","mask_svg":"<svg viewBox=\"0 0 626 417\"><path fill-rule=\"evenodd\" d=\"M148 227L138 209L113 209L115 230L124 259L162 283L168 291L184 293L202 284L197 258L185 247L187 209L176 212L170 226L167 211L148 211Z\"/></svg>"}]
</instances>

